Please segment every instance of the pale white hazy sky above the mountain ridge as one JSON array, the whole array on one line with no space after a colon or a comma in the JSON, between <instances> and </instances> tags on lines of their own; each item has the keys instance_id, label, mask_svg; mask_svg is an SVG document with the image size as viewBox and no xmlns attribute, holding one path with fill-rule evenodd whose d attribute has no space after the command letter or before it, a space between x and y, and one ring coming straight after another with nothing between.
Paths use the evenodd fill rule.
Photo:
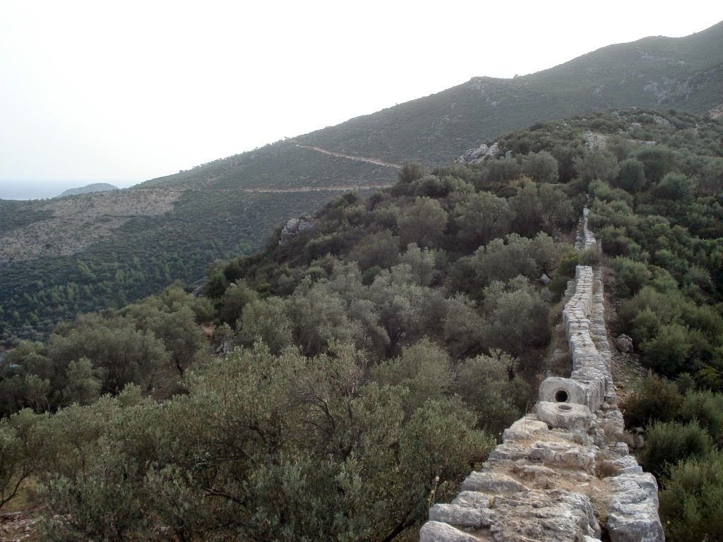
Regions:
<instances>
[{"instance_id":1,"label":"pale white hazy sky above the mountain ridge","mask_svg":"<svg viewBox=\"0 0 723 542\"><path fill-rule=\"evenodd\" d=\"M0 0L0 197L127 186L721 20L711 0Z\"/></svg>"}]
</instances>

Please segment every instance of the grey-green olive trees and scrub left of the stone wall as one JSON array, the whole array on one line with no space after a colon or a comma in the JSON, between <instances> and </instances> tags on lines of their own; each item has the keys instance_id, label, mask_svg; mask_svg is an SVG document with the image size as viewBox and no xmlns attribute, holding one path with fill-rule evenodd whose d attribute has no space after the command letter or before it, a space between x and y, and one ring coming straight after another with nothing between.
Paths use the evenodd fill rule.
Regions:
<instances>
[{"instance_id":1,"label":"grey-green olive trees and scrub left of the stone wall","mask_svg":"<svg viewBox=\"0 0 723 542\"><path fill-rule=\"evenodd\" d=\"M32 474L55 540L419 525L534 400L523 377L542 370L560 296L539 278L573 272L553 239L581 197L526 176L529 160L499 181L408 165L393 189L215 262L205 296L175 285L20 343L0 381L6 496ZM30 438L55 444L27 455Z\"/></svg>"}]
</instances>

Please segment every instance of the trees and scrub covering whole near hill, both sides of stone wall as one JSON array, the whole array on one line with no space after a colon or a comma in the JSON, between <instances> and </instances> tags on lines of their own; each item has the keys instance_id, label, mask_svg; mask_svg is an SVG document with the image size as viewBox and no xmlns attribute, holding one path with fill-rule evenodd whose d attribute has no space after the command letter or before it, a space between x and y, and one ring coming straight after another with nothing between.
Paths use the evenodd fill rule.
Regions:
<instances>
[{"instance_id":1,"label":"trees and scrub covering whole near hill, both sides of stone wall","mask_svg":"<svg viewBox=\"0 0 723 542\"><path fill-rule=\"evenodd\" d=\"M669 535L711 535L693 496L720 491L703 462L720 463L722 136L672 111L534 126L483 163L408 164L333 199L215 261L202 296L176 284L20 343L0 373L0 504L35 487L56 541L409 533L534 402L552 309L599 258L570 245L587 202L620 330L677 378L628 404L656 443L641 460L664 503L689 488L683 512L662 507Z\"/></svg>"}]
</instances>

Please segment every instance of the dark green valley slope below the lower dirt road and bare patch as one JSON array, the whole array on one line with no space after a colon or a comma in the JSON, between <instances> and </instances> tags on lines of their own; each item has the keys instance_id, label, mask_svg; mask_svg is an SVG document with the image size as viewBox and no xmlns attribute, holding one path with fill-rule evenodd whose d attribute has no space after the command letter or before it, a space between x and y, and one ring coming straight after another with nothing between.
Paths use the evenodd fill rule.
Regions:
<instances>
[{"instance_id":1,"label":"dark green valley slope below the lower dirt road and bare patch","mask_svg":"<svg viewBox=\"0 0 723 542\"><path fill-rule=\"evenodd\" d=\"M119 309L174 280L201 280L208 262L252 252L279 221L334 194L188 190L174 210L134 218L80 253L0 262L0 340L7 348L41 340L62 319ZM20 216L14 212L5 221L21 225Z\"/></svg>"}]
</instances>

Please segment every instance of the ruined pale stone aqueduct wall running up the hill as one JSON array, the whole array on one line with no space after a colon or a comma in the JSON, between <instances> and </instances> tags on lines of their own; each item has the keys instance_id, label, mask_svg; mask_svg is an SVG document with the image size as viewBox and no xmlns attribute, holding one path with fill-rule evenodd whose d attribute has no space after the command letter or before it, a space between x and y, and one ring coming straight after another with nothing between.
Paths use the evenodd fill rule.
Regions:
<instances>
[{"instance_id":1,"label":"ruined pale stone aqueduct wall running up the hill","mask_svg":"<svg viewBox=\"0 0 723 542\"><path fill-rule=\"evenodd\" d=\"M578 248L596 245L583 215ZM664 541L658 486L618 442L602 277L578 266L562 317L572 368L548 377L536 412L515 421L450 504L435 504L420 542Z\"/></svg>"}]
</instances>

